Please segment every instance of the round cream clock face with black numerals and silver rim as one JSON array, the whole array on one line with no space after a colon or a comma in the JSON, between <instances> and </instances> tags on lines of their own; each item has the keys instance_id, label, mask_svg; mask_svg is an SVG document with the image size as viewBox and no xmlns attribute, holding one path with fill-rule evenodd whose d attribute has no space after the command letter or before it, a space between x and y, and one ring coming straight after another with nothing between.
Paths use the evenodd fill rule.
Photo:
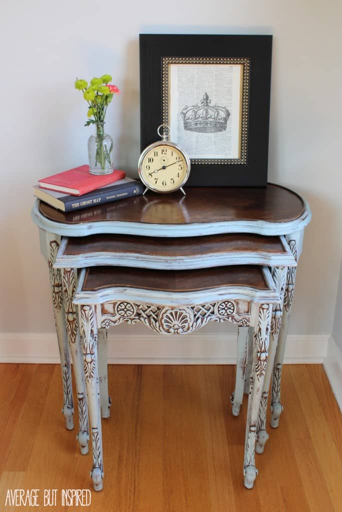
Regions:
<instances>
[{"instance_id":1,"label":"round cream clock face with black numerals and silver rim","mask_svg":"<svg viewBox=\"0 0 342 512\"><path fill-rule=\"evenodd\" d=\"M189 177L190 161L176 145L161 142L147 147L139 159L143 183L156 192L172 192Z\"/></svg>"}]
</instances>

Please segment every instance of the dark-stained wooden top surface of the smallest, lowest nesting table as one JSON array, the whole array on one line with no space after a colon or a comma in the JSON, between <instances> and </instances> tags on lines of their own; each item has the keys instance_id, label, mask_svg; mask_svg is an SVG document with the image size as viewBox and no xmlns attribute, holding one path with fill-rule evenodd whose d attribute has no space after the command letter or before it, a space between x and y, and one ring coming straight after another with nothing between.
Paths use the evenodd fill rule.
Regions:
<instances>
[{"instance_id":1,"label":"dark-stained wooden top surface of the smallest, lowest nesting table","mask_svg":"<svg viewBox=\"0 0 342 512\"><path fill-rule=\"evenodd\" d=\"M222 286L249 286L267 290L261 267L235 265L196 270L151 270L131 267L90 267L83 291L127 287L169 292L208 290Z\"/></svg>"}]
</instances>

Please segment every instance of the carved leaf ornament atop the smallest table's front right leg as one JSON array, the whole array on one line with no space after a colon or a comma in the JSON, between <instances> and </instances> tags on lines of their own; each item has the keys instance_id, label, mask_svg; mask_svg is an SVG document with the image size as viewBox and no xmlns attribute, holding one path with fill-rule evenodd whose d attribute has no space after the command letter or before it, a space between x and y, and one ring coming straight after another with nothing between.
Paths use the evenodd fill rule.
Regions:
<instances>
[{"instance_id":1,"label":"carved leaf ornament atop the smallest table's front right leg","mask_svg":"<svg viewBox=\"0 0 342 512\"><path fill-rule=\"evenodd\" d=\"M258 380L265 375L268 346L270 341L272 306L261 304L258 314L258 326L254 331L254 345L256 346L255 376Z\"/></svg>"}]
</instances>

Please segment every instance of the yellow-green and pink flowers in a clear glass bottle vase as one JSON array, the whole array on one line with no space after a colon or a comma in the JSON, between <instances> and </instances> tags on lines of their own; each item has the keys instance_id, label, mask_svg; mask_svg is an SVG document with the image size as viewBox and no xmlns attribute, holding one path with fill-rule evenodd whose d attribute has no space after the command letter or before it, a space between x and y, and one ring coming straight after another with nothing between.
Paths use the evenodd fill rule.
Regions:
<instances>
[{"instance_id":1,"label":"yellow-green and pink flowers in a clear glass bottle vase","mask_svg":"<svg viewBox=\"0 0 342 512\"><path fill-rule=\"evenodd\" d=\"M109 103L114 94L120 94L116 86L113 86L110 75L100 78L92 78L88 82L83 79L75 81L75 89L83 92L83 97L88 103L88 121L85 126L95 125L95 135L88 139L89 169L91 174L110 174L113 172L112 163L112 138L105 133L104 124Z\"/></svg>"}]
</instances>

